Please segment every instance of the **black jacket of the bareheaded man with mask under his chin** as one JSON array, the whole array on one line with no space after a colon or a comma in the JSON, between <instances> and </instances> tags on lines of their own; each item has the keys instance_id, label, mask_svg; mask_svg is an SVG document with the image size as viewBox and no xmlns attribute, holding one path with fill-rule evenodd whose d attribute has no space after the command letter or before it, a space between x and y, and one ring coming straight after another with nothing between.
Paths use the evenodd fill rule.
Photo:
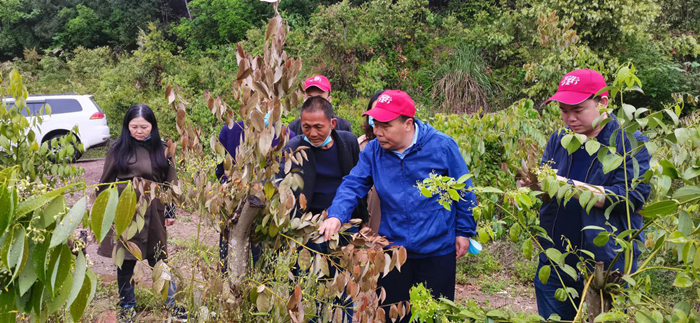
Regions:
<instances>
[{"instance_id":1,"label":"black jacket of the bareheaded man with mask under his chin","mask_svg":"<svg viewBox=\"0 0 700 323\"><path fill-rule=\"evenodd\" d=\"M333 138L333 144L336 145L336 148L338 149L338 160L340 162L341 174L343 177L345 177L346 175L350 174L350 170L357 165L357 162L360 159L360 146L357 143L357 137L355 137L352 132L342 130L333 130L331 132L331 137ZM311 145L304 140L304 136L296 136L289 141L286 147L284 147L284 151L295 151L299 147L311 148ZM304 193L304 196L306 196L308 200L307 205L310 205L311 199L314 196L316 184L316 159L314 158L314 154L311 149L307 149L306 152L309 160L304 161L303 166L293 163L292 171L298 171L299 175L301 175L301 178L304 180L304 188L294 192L297 201L299 200L300 194ZM282 161L281 165L284 165L284 161ZM282 168L283 167L284 166L282 166ZM283 169L278 174L278 177L284 177ZM300 211L297 212L297 215L307 211L301 209L299 204L297 204L296 207L298 208L298 211ZM367 213L367 203L365 199L360 201L357 208L355 208L355 211L352 213L352 218L361 219L363 223L367 222L369 215Z\"/></svg>"}]
</instances>

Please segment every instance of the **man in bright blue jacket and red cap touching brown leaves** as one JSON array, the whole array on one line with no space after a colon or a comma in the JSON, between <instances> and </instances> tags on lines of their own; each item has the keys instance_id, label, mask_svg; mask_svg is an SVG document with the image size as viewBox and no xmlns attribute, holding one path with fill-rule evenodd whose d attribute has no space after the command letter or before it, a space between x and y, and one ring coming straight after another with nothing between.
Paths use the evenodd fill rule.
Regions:
<instances>
[{"instance_id":1,"label":"man in bright blue jacket and red cap touching brown leaves","mask_svg":"<svg viewBox=\"0 0 700 323\"><path fill-rule=\"evenodd\" d=\"M469 170L457 143L415 119L415 113L413 100L396 90L385 91L375 107L365 112L374 118L377 138L367 144L357 166L343 179L319 229L328 240L341 223L350 220L372 185L376 187L382 208L379 234L408 252L401 272L394 270L379 280L386 290L384 304L408 300L411 286L418 283L425 284L434 297L454 299L456 259L467 252L469 237L476 230L474 193L467 192L448 211L437 197L426 198L416 189L416 183L431 172L459 178Z\"/></svg>"}]
</instances>

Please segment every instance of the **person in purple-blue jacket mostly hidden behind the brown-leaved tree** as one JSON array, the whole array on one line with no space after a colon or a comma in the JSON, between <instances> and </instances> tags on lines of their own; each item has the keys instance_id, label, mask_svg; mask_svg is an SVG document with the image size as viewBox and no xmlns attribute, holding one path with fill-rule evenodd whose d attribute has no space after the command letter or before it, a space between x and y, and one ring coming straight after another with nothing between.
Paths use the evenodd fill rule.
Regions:
<instances>
[{"instance_id":1,"label":"person in purple-blue jacket mostly hidden behind the brown-leaved tree","mask_svg":"<svg viewBox=\"0 0 700 323\"><path fill-rule=\"evenodd\" d=\"M267 127L269 125L268 119L270 118L270 112L268 112L265 115L265 126ZM294 131L289 130L287 128L288 133L287 135L289 138L294 138L296 134ZM227 125L224 125L221 127L221 131L219 131L219 142L224 146L226 149L226 152L232 156L233 158L233 163L236 163L236 149L238 149L238 146L241 144L241 140L245 140L245 123L243 120L241 121L236 121L233 124L233 127L229 128ZM272 147L277 146L279 143L280 138L275 137L272 140ZM218 178L220 181L226 181L227 178L224 174L224 163L221 162L218 165L216 165L216 178ZM229 229L228 227L226 228L221 228L221 232L219 233L219 264L221 265L221 273L226 275L227 273L227 257L228 257L228 237L229 237ZM260 247L258 246L257 243L251 243L250 247L251 253L253 254L253 262L257 262L258 258L260 257Z\"/></svg>"}]
</instances>

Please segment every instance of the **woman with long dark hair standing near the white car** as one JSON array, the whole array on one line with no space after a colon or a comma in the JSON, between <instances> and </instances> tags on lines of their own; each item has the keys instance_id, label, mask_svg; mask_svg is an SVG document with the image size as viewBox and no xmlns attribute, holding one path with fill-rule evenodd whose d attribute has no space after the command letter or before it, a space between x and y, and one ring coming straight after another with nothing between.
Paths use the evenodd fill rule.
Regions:
<instances>
[{"instance_id":1,"label":"woman with long dark hair standing near the white car","mask_svg":"<svg viewBox=\"0 0 700 323\"><path fill-rule=\"evenodd\" d=\"M131 180L134 177L157 183L172 182L176 179L173 156L166 155L166 152L153 111L143 104L134 105L126 112L122 132L107 152L100 183ZM120 185L119 191L125 186ZM107 185L102 185L100 191L106 187ZM166 206L159 199L153 199L144 214L143 229L129 240L139 247L143 259L148 260L151 266L159 260L167 259L168 236L165 227L174 224L175 219L173 214L166 217L165 210ZM115 248L123 248L123 245L118 243L115 246L114 231L110 230L97 253L111 258ZM131 282L136 261L125 250L124 262L121 268L117 267L119 322L132 322L136 314L134 285ZM183 309L175 306L175 289L175 283L171 282L165 305L171 311L173 319L186 319Z\"/></svg>"}]
</instances>

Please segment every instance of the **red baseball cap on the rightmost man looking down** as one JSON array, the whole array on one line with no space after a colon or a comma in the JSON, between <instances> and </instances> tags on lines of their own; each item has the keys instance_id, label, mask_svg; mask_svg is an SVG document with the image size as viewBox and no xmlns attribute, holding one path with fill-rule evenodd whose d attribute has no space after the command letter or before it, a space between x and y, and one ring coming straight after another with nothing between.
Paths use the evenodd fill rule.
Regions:
<instances>
[{"instance_id":1,"label":"red baseball cap on the rightmost man looking down","mask_svg":"<svg viewBox=\"0 0 700 323\"><path fill-rule=\"evenodd\" d=\"M559 83L557 93L545 103L557 101L570 105L579 104L606 86L605 78L600 73L589 69L575 70L564 75ZM608 95L608 92L605 91L600 96Z\"/></svg>"}]
</instances>

